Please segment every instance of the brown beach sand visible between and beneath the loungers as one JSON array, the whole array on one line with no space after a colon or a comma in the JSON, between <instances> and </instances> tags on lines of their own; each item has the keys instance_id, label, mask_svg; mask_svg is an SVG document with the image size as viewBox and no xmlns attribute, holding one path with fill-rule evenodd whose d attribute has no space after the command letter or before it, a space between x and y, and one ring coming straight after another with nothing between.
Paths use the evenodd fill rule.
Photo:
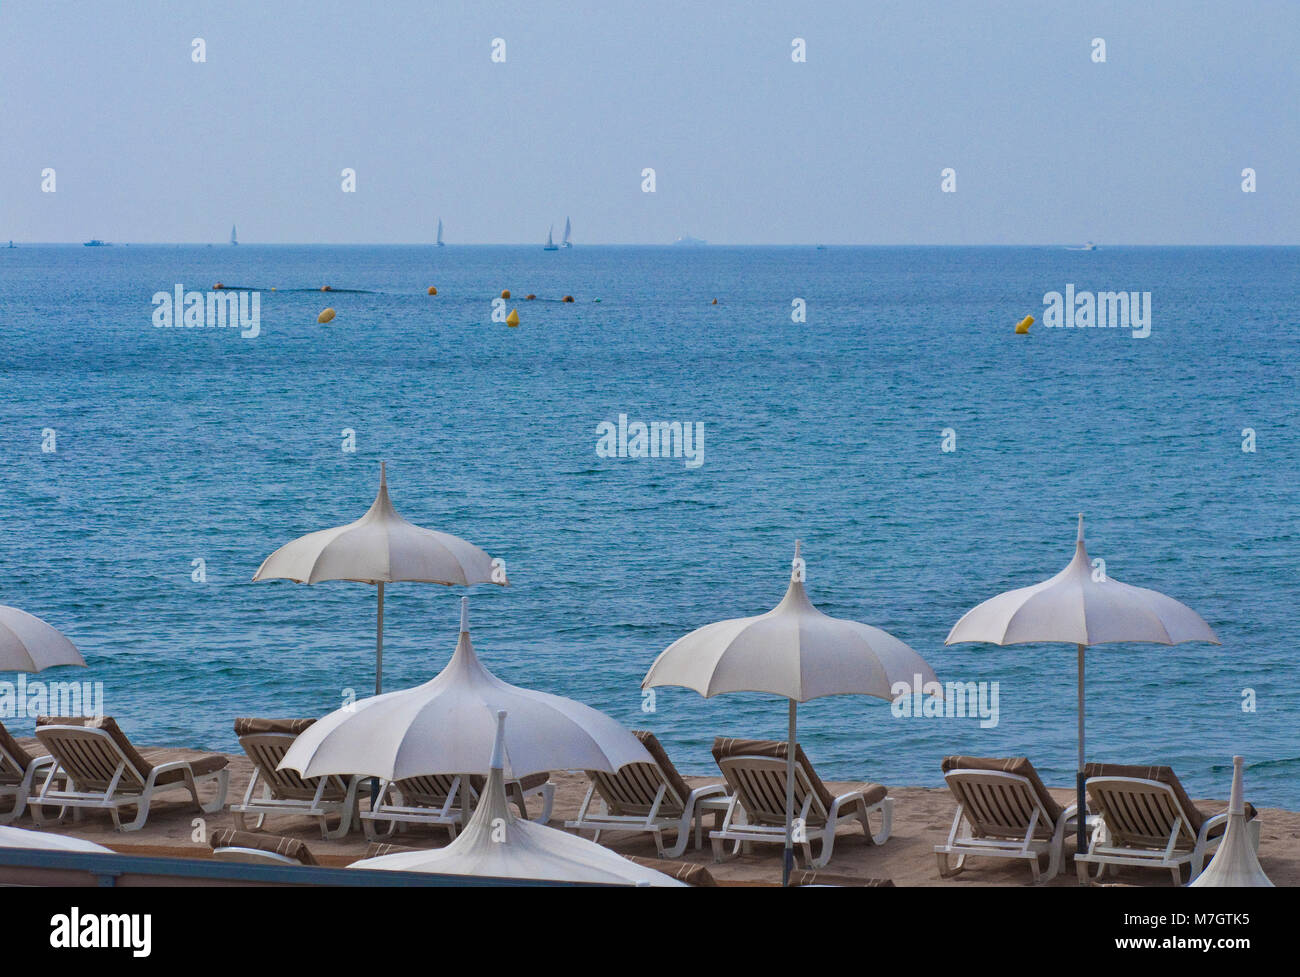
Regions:
<instances>
[{"instance_id":1,"label":"brown beach sand visible between and beneath the loungers","mask_svg":"<svg viewBox=\"0 0 1300 977\"><path fill-rule=\"evenodd\" d=\"M35 746L34 739L20 741ZM165 760L202 756L192 750L142 750L146 759L161 763ZM228 806L238 803L252 776L252 764L242 755L228 755L230 759L230 791ZM566 818L573 817L586 790L586 777L581 772L556 772L551 774L556 785L555 807L551 825L563 826ZM720 778L719 778L720 780ZM686 777L692 787L716 782L706 777ZM832 791L848 789L848 783L828 783ZM1062 804L1072 800L1072 791L1065 787L1052 787L1052 794ZM823 869L827 873L854 880L888 878L897 886L1027 886L1030 872L1023 864L1013 864L1001 859L974 859L965 872L953 878L940 878L935 864L933 847L942 843L952 826L956 811L952 795L942 787L889 787L894 799L893 835L883 846L870 846L863 842L861 830L842 828L837 834L835 855L831 864ZM173 795L181 796L181 795ZM204 799L211 794L204 794ZM1197 806L1206 813L1218 813L1227 806L1222 799L1195 798ZM364 807L363 802L363 807ZM534 799L533 806L536 811ZM168 855L173 857L209 857L211 850L203 842L194 841L195 817L200 815L192 804L161 799L155 803L150 820L139 831L120 833L113 830L108 815L86 813L83 820L64 824L48 822L42 830L75 835L105 844L114 851L134 855ZM234 828L234 817L222 811L205 817L205 830ZM1260 833L1260 864L1277 886L1300 885L1300 813L1279 808L1260 808L1262 820ZM14 826L34 828L30 816L22 817ZM322 841L315 821L303 817L277 817L266 824L268 833L283 834L306 842L322 865L343 867L365 855L367 839L360 829L354 829L347 838ZM706 820L707 830L707 820ZM441 847L447 842L443 830L413 829L390 841L411 847ZM601 837L607 844L623 855L654 857L654 842L650 835L612 834ZM1071 846L1067 842L1066 850ZM754 846L753 854L741 855L723 863L714 863L707 835L705 847L688 847L682 861L705 864L722 885L774 885L780 881L780 848L775 844ZM1150 869L1122 869L1114 880L1122 885L1170 887L1167 872ZM1052 886L1078 885L1072 863L1069 861Z\"/></svg>"}]
</instances>

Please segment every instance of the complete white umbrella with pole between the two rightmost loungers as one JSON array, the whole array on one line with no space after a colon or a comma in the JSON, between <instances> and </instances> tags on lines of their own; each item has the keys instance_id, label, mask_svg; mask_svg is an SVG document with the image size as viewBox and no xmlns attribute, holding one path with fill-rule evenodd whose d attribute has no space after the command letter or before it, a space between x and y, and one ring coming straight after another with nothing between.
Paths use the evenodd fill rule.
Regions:
<instances>
[{"instance_id":1,"label":"complete white umbrella with pole between the two rightmost loungers","mask_svg":"<svg viewBox=\"0 0 1300 977\"><path fill-rule=\"evenodd\" d=\"M1083 513L1074 559L1056 577L1032 587L1009 590L971 608L953 625L945 644L985 642L1030 644L1067 642L1076 647L1079 689L1079 772L1075 781L1079 811L1084 804L1083 777L1083 657L1089 644L1156 642L1180 644L1218 638L1201 616L1164 594L1134 587L1095 569L1083 544ZM1079 850L1086 847L1084 817L1079 817Z\"/></svg>"}]
</instances>

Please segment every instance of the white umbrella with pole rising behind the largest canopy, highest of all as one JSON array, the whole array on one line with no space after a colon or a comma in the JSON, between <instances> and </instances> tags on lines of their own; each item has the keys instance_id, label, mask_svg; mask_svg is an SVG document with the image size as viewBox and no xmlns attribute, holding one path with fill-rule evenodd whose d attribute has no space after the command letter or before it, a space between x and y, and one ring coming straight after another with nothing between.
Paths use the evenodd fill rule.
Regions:
<instances>
[{"instance_id":1,"label":"white umbrella with pole rising behind the largest canopy, highest of all","mask_svg":"<svg viewBox=\"0 0 1300 977\"><path fill-rule=\"evenodd\" d=\"M361 518L346 526L308 533L268 556L255 581L320 583L344 579L377 587L374 694L384 691L384 585L398 581L472 586L507 586L504 568L473 543L407 522L389 500L389 479L380 463L380 492Z\"/></svg>"}]
</instances>

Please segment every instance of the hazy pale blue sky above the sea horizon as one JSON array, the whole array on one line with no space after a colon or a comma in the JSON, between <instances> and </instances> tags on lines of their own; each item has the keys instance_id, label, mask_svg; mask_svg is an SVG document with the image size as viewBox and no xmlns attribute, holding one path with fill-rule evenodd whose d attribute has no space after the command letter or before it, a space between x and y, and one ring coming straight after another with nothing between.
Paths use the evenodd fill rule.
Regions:
<instances>
[{"instance_id":1,"label":"hazy pale blue sky above the sea horizon","mask_svg":"<svg viewBox=\"0 0 1300 977\"><path fill-rule=\"evenodd\" d=\"M0 0L0 240L1296 243L1297 81L1295 0Z\"/></svg>"}]
</instances>

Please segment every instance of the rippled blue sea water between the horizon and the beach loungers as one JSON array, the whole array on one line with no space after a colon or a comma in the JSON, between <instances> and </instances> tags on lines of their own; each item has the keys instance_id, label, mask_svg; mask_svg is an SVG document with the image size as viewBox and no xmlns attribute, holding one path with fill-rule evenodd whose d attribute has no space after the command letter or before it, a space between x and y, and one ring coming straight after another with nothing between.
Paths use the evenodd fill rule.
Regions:
<instances>
[{"instance_id":1,"label":"rippled blue sea water between the horizon and the beach loungers","mask_svg":"<svg viewBox=\"0 0 1300 977\"><path fill-rule=\"evenodd\" d=\"M218 281L260 290L256 339L153 326L155 292ZM1013 335L1067 283L1150 291L1150 336ZM139 742L231 750L235 716L370 687L372 587L251 577L360 516L382 459L404 516L507 561L511 587L472 591L482 660L654 729L686 772L716 734L783 737L784 703L660 690L646 713L640 679L688 630L771 608L800 538L823 611L1000 683L993 729L806 704L826 777L936 785L945 754L1023 754L1066 786L1074 648L942 642L1061 569L1082 511L1110 576L1222 639L1092 650L1089 757L1222 798L1244 754L1252 800L1295 809L1297 286L1291 248L0 249L0 603L69 634L90 668L42 677L104 682ZM519 329L490 321L503 287ZM619 413L703 422L705 464L598 457ZM462 592L387 589L386 687L447 661Z\"/></svg>"}]
</instances>

